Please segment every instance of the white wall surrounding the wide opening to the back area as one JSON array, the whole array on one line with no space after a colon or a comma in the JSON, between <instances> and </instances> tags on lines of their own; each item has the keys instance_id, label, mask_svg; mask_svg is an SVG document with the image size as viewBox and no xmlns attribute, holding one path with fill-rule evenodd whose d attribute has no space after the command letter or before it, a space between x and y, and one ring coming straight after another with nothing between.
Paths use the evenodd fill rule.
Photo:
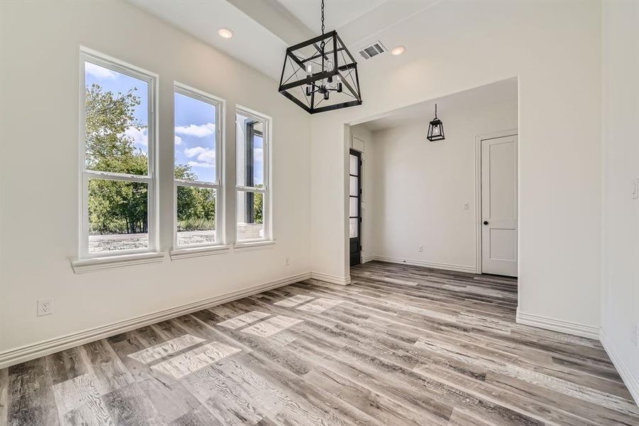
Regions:
<instances>
[{"instance_id":1,"label":"white wall surrounding the wide opening to the back area","mask_svg":"<svg viewBox=\"0 0 639 426\"><path fill-rule=\"evenodd\" d=\"M311 121L313 269L348 275L343 123L518 76L519 309L598 329L601 4L446 1L394 31L408 50L362 61L364 104Z\"/></svg>"}]
</instances>

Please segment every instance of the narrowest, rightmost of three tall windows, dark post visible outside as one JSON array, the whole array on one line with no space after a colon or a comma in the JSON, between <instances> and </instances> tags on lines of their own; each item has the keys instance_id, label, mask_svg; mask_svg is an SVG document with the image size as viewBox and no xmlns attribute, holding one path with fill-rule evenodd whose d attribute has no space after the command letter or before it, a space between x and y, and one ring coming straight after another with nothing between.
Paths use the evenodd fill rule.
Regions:
<instances>
[{"instance_id":1,"label":"narrowest, rightmost of three tall windows, dark post visible outside","mask_svg":"<svg viewBox=\"0 0 639 426\"><path fill-rule=\"evenodd\" d=\"M235 146L238 159L237 241L270 239L269 124L265 116L238 109Z\"/></svg>"}]
</instances>

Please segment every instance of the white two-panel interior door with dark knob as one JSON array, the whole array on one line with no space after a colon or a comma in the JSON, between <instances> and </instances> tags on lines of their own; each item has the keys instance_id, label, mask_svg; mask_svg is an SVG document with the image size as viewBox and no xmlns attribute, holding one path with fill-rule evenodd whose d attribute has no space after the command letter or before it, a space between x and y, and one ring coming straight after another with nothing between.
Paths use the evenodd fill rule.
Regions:
<instances>
[{"instance_id":1,"label":"white two-panel interior door with dark knob","mask_svg":"<svg viewBox=\"0 0 639 426\"><path fill-rule=\"evenodd\" d=\"M482 273L517 276L517 136L482 141Z\"/></svg>"}]
</instances>

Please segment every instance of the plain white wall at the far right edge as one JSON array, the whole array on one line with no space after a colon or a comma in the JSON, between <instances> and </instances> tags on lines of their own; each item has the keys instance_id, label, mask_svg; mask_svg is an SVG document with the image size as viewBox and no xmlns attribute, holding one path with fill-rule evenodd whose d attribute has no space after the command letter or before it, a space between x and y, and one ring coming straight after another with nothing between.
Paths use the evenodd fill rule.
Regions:
<instances>
[{"instance_id":1,"label":"plain white wall at the far right edge","mask_svg":"<svg viewBox=\"0 0 639 426\"><path fill-rule=\"evenodd\" d=\"M603 70L602 341L639 403L639 2L604 2Z\"/></svg>"}]
</instances>

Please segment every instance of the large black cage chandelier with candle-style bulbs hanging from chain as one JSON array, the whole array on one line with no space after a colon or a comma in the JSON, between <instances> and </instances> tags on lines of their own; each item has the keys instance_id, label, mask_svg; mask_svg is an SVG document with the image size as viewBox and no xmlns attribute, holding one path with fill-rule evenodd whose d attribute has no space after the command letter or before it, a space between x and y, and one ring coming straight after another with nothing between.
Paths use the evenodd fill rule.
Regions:
<instances>
[{"instance_id":1,"label":"large black cage chandelier with candle-style bulbs hanging from chain","mask_svg":"<svg viewBox=\"0 0 639 426\"><path fill-rule=\"evenodd\" d=\"M357 62L335 31L287 49L279 80L279 93L309 114L362 104Z\"/></svg>"}]
</instances>

